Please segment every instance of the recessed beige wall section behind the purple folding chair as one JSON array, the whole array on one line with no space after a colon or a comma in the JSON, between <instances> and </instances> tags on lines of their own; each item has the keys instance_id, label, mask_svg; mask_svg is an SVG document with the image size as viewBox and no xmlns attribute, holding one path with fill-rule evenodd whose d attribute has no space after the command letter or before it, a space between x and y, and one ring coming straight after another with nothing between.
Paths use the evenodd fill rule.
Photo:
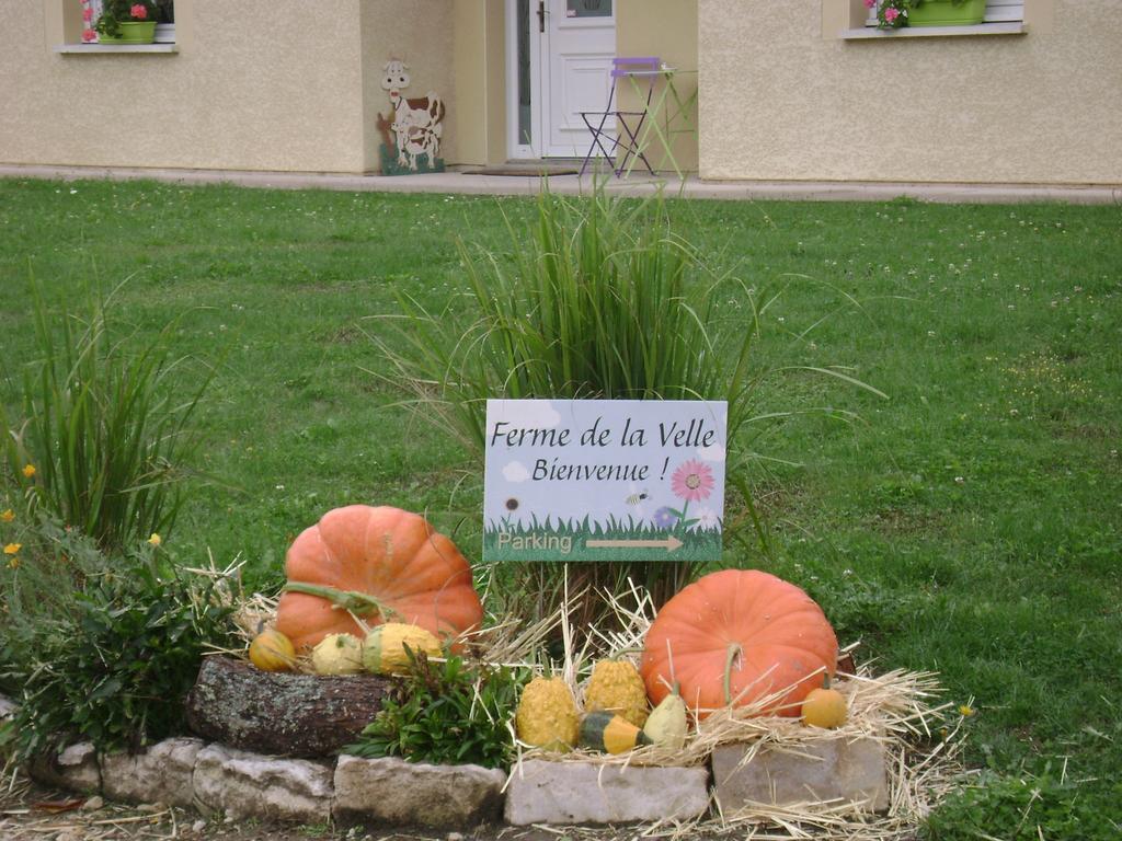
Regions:
<instances>
[{"instance_id":1,"label":"recessed beige wall section behind the purple folding chair","mask_svg":"<svg viewBox=\"0 0 1122 841\"><path fill-rule=\"evenodd\" d=\"M674 86L683 100L698 89L698 4L697 0L616 0L616 54L622 56L657 56L680 73ZM624 86L625 108L638 105L631 86ZM670 104L668 113L675 110ZM670 123L671 149L678 166L686 172L698 168L697 107L690 110L692 126L681 119ZM678 130L683 130L678 133ZM647 155L655 169L670 168L670 161L657 142Z\"/></svg>"}]
</instances>

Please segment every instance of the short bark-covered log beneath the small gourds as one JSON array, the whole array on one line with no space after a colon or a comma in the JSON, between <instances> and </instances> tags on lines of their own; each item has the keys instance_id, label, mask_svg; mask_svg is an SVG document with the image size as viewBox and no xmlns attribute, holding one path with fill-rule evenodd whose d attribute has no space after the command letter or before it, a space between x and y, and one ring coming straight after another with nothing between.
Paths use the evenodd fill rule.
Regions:
<instances>
[{"instance_id":1,"label":"short bark-covered log beneath the small gourds","mask_svg":"<svg viewBox=\"0 0 1122 841\"><path fill-rule=\"evenodd\" d=\"M396 682L375 675L263 672L206 657L187 695L187 724L233 748L289 757L328 756L369 724Z\"/></svg>"}]
</instances>

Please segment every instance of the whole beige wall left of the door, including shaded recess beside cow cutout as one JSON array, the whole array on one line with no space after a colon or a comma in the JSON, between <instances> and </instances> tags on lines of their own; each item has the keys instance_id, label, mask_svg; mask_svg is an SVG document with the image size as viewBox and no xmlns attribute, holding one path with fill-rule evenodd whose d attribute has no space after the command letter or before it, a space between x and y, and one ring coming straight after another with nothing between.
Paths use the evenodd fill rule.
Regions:
<instances>
[{"instance_id":1,"label":"whole beige wall left of the door, including shaded recess beside cow cutout","mask_svg":"<svg viewBox=\"0 0 1122 841\"><path fill-rule=\"evenodd\" d=\"M502 123L487 130L494 108L490 123L479 122L479 102L502 104L503 80L495 94L496 63L477 40L497 31L500 67L502 0L230 8L178 0L175 54L59 54L80 40L79 0L13 4L0 27L0 163L375 172L390 57L410 65L407 96L443 98L447 160L482 163L491 136L502 137Z\"/></svg>"}]
</instances>

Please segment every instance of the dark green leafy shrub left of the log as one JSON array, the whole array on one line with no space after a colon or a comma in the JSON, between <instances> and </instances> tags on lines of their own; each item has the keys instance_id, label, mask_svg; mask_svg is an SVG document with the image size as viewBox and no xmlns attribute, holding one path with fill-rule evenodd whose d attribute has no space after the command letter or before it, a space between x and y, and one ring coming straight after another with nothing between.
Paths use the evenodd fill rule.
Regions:
<instances>
[{"instance_id":1,"label":"dark green leafy shrub left of the log","mask_svg":"<svg viewBox=\"0 0 1122 841\"><path fill-rule=\"evenodd\" d=\"M0 667L18 688L19 755L58 738L135 749L186 732L184 699L208 647L230 641L230 608L214 580L162 553L141 544L108 555L47 525L35 555L0 570ZM68 573L57 576L61 595L49 610L29 606L50 570Z\"/></svg>"}]
</instances>

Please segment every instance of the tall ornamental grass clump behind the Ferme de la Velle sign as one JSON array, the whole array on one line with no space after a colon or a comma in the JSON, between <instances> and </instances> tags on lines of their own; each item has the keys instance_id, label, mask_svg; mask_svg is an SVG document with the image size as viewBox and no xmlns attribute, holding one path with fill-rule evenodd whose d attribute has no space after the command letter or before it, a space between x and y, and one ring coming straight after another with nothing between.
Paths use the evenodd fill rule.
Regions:
<instances>
[{"instance_id":1,"label":"tall ornamental grass clump behind the Ferme de la Velle sign","mask_svg":"<svg viewBox=\"0 0 1122 841\"><path fill-rule=\"evenodd\" d=\"M749 367L754 297L672 230L661 195L545 192L528 230L507 225L508 255L460 243L462 286L443 309L399 294L399 313L377 318L378 376L479 456L489 398L727 400L735 442L762 373ZM723 308L730 298L747 305ZM527 613L546 616L558 569L526 567L535 580L506 589L542 597ZM629 576L665 599L693 575L687 563L581 569L577 589L597 598Z\"/></svg>"}]
</instances>

